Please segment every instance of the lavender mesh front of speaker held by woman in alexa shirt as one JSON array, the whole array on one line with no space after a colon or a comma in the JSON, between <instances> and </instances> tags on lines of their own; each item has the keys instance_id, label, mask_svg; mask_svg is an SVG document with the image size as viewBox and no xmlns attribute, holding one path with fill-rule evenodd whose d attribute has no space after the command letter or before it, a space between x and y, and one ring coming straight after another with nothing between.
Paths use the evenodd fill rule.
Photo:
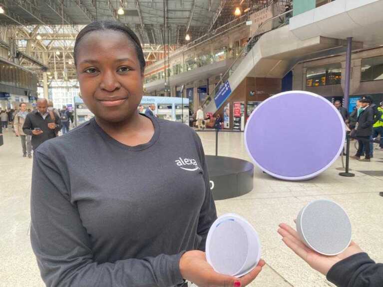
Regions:
<instances>
[{"instance_id":1,"label":"lavender mesh front of speaker held by woman in alexa shirt","mask_svg":"<svg viewBox=\"0 0 383 287\"><path fill-rule=\"evenodd\" d=\"M246 231L234 220L221 222L212 234L209 252L216 272L226 275L237 274L247 259Z\"/></svg>"}]
</instances>

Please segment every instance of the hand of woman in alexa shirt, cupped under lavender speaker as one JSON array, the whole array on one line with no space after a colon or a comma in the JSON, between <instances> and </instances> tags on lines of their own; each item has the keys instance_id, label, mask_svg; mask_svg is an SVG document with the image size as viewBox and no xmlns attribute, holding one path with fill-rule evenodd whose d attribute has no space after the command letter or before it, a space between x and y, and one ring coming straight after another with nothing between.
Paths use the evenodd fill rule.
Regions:
<instances>
[{"instance_id":1,"label":"hand of woman in alexa shirt, cupped under lavender speaker","mask_svg":"<svg viewBox=\"0 0 383 287\"><path fill-rule=\"evenodd\" d=\"M260 260L258 266L250 273L241 278L219 274L206 261L205 253L202 251L188 251L180 260L180 272L182 278L194 283L199 287L244 287L250 284L262 271L265 265Z\"/></svg>"}]
</instances>

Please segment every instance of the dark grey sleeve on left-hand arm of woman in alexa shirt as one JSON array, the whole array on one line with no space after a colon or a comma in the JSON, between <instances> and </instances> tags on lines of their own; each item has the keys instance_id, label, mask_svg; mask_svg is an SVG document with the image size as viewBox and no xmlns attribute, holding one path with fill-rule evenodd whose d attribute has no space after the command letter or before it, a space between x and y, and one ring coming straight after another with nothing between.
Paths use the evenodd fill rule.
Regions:
<instances>
[{"instance_id":1,"label":"dark grey sleeve on left-hand arm of woman in alexa shirt","mask_svg":"<svg viewBox=\"0 0 383 287\"><path fill-rule=\"evenodd\" d=\"M65 167L38 150L33 156L30 240L47 287L169 287L182 284L183 253L98 264L70 201Z\"/></svg>"}]
</instances>

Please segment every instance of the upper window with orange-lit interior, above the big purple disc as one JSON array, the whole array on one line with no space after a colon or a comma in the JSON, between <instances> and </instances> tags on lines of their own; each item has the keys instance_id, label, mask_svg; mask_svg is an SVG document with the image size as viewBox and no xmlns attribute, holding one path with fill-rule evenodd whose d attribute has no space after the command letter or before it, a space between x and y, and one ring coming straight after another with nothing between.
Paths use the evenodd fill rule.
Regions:
<instances>
[{"instance_id":1,"label":"upper window with orange-lit interior, above the big purple disc","mask_svg":"<svg viewBox=\"0 0 383 287\"><path fill-rule=\"evenodd\" d=\"M306 86L317 87L325 85L340 84L342 79L342 68L340 63L321 67L307 68Z\"/></svg>"}]
</instances>

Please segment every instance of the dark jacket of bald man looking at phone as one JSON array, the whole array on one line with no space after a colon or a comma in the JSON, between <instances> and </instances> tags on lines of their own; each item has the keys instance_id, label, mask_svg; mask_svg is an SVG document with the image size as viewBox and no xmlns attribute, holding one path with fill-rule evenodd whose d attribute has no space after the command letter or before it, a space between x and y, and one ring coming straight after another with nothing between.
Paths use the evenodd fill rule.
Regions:
<instances>
[{"instance_id":1,"label":"dark jacket of bald man looking at phone","mask_svg":"<svg viewBox=\"0 0 383 287\"><path fill-rule=\"evenodd\" d=\"M60 116L56 114L54 117L55 119L52 119L48 113L44 119L38 111L31 112L26 115L22 130L24 134L32 136L33 150L35 150L44 141L56 137L56 133L62 128ZM55 123L56 128L54 130L48 128L48 123ZM40 128L43 133L40 135L34 135L32 133L34 128Z\"/></svg>"}]
</instances>

